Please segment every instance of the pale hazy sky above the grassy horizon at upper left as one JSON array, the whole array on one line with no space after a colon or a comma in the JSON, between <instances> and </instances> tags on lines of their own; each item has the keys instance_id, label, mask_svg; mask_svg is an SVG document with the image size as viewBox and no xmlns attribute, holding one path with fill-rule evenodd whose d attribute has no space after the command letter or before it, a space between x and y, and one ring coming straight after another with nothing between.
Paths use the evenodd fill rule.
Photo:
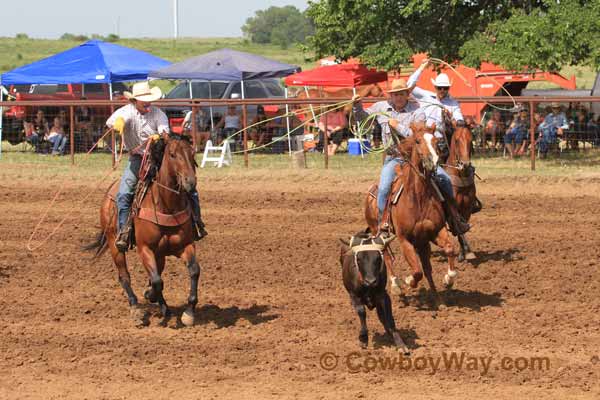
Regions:
<instances>
[{"instance_id":1,"label":"pale hazy sky above the grassy horizon at upper left","mask_svg":"<svg viewBox=\"0 0 600 400\"><path fill-rule=\"evenodd\" d=\"M63 33L124 38L173 37L174 0L2 0L0 36L26 33L55 39ZM178 0L179 37L239 37L248 17L271 6L296 6L308 0Z\"/></svg>"}]
</instances>

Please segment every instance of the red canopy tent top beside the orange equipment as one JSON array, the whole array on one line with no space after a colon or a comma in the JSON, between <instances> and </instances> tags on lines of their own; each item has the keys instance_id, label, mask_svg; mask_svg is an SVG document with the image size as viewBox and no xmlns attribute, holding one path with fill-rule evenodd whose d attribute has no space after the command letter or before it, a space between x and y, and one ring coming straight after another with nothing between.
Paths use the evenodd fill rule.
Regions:
<instances>
[{"instance_id":1,"label":"red canopy tent top beside the orange equipment","mask_svg":"<svg viewBox=\"0 0 600 400\"><path fill-rule=\"evenodd\" d=\"M287 86L357 87L387 81L387 72L362 64L336 64L298 72L285 78Z\"/></svg>"}]
</instances>

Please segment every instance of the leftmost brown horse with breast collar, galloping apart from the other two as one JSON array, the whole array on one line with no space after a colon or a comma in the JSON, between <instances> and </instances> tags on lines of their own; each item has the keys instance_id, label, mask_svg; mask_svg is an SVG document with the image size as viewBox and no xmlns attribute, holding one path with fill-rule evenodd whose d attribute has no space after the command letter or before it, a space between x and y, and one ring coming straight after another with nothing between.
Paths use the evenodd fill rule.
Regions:
<instances>
[{"instance_id":1,"label":"leftmost brown horse with breast collar, galloping apart from the other two","mask_svg":"<svg viewBox=\"0 0 600 400\"><path fill-rule=\"evenodd\" d=\"M176 256L185 261L190 274L190 292L181 321L184 325L191 326L194 324L194 309L198 303L200 277L200 265L196 261L192 234L191 206L187 195L196 185L194 149L189 136L170 135L161 141L164 141L164 154L160 169L145 195L136 194L136 200L141 201L140 209L133 218L135 243L138 256L150 280L150 288L144 293L144 297L152 303L158 303L164 317L163 324L169 318L161 278L165 257ZM153 145L152 148L154 147ZM114 199L117 189L117 185L113 185L104 197L100 207L102 231L96 243L87 249L96 248L96 257L106 249L110 250L118 269L119 283L129 300L131 315L136 324L145 325L148 323L147 313L139 307L138 299L131 288L126 256L115 247L117 208Z\"/></svg>"}]
</instances>

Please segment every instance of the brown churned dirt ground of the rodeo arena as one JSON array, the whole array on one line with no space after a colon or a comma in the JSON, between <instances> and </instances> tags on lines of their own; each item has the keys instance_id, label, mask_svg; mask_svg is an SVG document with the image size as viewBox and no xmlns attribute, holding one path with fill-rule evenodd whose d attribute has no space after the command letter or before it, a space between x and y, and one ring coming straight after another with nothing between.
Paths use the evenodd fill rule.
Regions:
<instances>
[{"instance_id":1,"label":"brown churned dirt ground of the rodeo arena","mask_svg":"<svg viewBox=\"0 0 600 400\"><path fill-rule=\"evenodd\" d=\"M147 306L142 329L109 256L91 264L80 251L102 192L84 203L90 187L73 182L49 216L68 215L65 227L30 253L52 190L43 180L3 181L0 398L600 398L600 180L480 183L485 210L470 234L478 259L459 266L449 307L433 313L424 289L393 299L410 361L389 346L374 312L369 349L359 350L341 283L337 238L363 227L370 181L200 178L210 236L197 250L197 324L160 326ZM434 268L441 285L439 254ZM403 261L396 269L407 271ZM141 298L146 278L133 253L130 270ZM183 264L170 259L164 280L181 312ZM446 367L451 357L464 357L462 367Z\"/></svg>"}]
</instances>

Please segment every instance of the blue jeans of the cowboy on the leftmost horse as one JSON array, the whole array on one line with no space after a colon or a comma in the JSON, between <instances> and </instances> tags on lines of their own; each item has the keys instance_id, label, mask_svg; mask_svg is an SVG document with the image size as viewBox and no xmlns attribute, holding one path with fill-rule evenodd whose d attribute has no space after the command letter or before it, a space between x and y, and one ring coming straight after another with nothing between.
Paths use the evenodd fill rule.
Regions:
<instances>
[{"instance_id":1,"label":"blue jeans of the cowboy on the leftmost horse","mask_svg":"<svg viewBox=\"0 0 600 400\"><path fill-rule=\"evenodd\" d=\"M127 223L129 218L129 212L131 211L131 203L133 202L133 196L135 195L135 188L138 183L138 176L140 167L142 165L142 156L134 154L129 156L129 161L125 166L125 171L121 177L121 183L119 184L119 192L117 193L117 210L118 210L118 221L119 230ZM198 198L198 191L194 187L192 192L189 194L190 201L192 203L192 213L197 221L200 216L200 200Z\"/></svg>"}]
</instances>

